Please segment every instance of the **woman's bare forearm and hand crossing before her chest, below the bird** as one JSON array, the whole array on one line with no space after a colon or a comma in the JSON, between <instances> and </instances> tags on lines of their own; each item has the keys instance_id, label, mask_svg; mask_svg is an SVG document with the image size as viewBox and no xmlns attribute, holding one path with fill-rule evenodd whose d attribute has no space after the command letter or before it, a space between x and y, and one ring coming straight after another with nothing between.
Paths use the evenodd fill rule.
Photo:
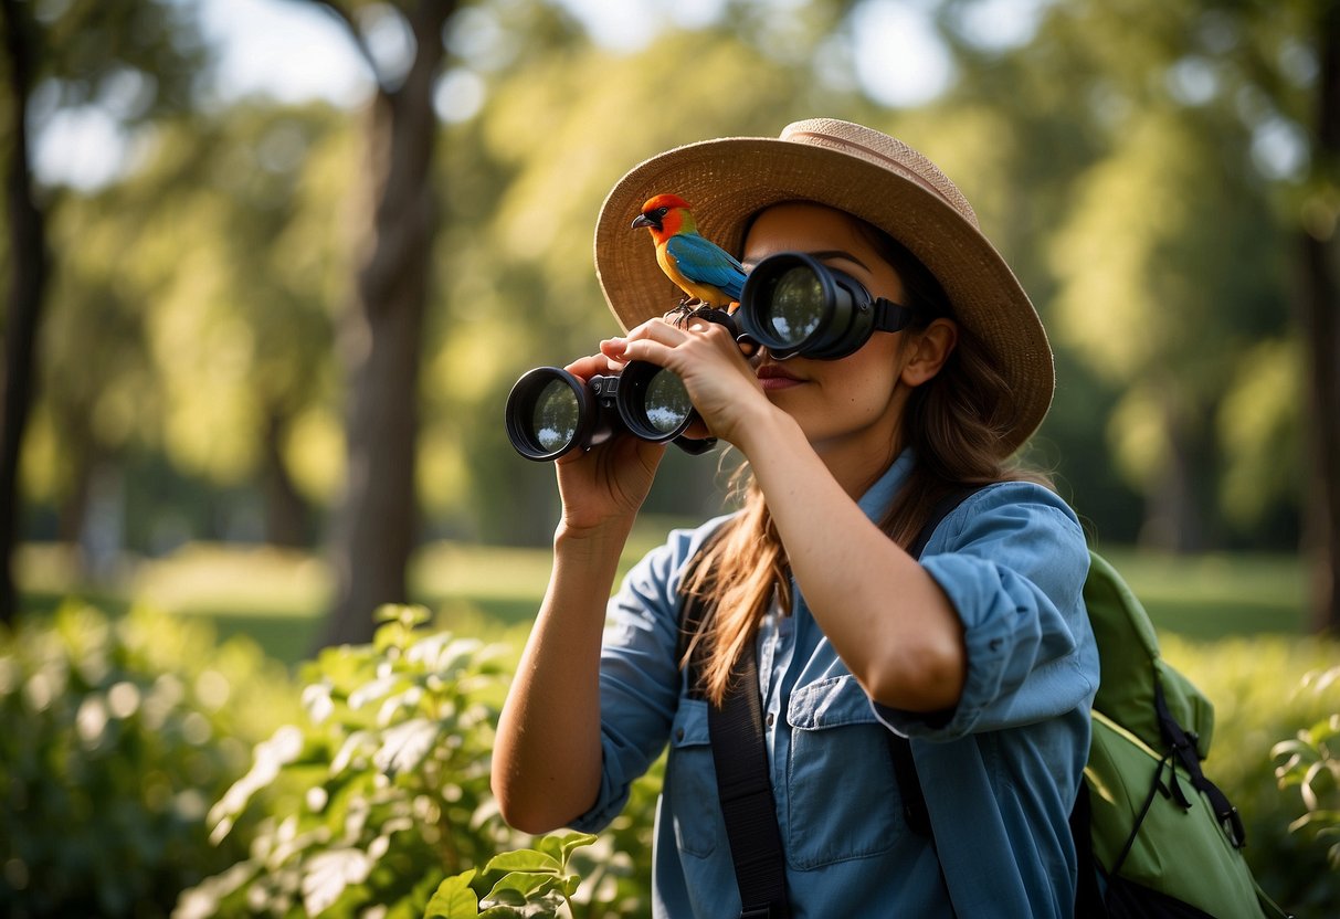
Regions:
<instances>
[{"instance_id":1,"label":"woman's bare forearm and hand crossing before her chest, below the bird","mask_svg":"<svg viewBox=\"0 0 1340 919\"><path fill-rule=\"evenodd\" d=\"M721 326L647 323L602 350L678 372L712 433L748 457L796 583L866 693L907 711L953 707L967 656L949 599L866 517L796 421L768 401L730 335Z\"/></svg>"}]
</instances>

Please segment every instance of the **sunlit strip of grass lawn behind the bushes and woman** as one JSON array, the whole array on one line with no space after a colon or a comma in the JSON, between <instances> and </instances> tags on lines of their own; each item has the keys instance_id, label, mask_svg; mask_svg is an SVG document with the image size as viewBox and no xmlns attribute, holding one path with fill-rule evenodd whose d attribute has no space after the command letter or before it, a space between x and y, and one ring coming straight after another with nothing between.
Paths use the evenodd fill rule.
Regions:
<instances>
[{"instance_id":1,"label":"sunlit strip of grass lawn behind the bushes and woman","mask_svg":"<svg viewBox=\"0 0 1340 919\"><path fill-rule=\"evenodd\" d=\"M659 540L666 524L647 521L634 535L624 569ZM1209 640L1305 631L1306 579L1294 557L1168 557L1122 547L1103 547L1103 553L1162 632ZM127 564L95 587L78 587L74 561L60 547L25 547L16 568L32 612L48 612L68 596L111 614L145 603L209 619L220 639L251 635L289 664L310 655L331 596L320 556L265 547L189 545L165 559ZM415 555L410 584L413 599L437 611L445 627L519 644L548 576L548 549L436 543Z\"/></svg>"}]
</instances>

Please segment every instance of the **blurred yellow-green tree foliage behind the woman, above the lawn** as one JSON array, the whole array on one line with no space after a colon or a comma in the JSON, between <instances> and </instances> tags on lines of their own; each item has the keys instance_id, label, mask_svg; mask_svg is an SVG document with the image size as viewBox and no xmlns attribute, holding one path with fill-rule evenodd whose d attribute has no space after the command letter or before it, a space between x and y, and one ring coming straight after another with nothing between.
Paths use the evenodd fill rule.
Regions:
<instances>
[{"instance_id":1,"label":"blurred yellow-green tree foliage behind the woman, above the lawn","mask_svg":"<svg viewBox=\"0 0 1340 919\"><path fill-rule=\"evenodd\" d=\"M954 79L902 109L872 98L852 58L862 12L884 4L718 5L634 50L592 43L540 0L453 17L440 92L449 110L453 91L478 99L437 129L421 540L548 540L551 473L509 451L501 405L521 371L615 331L591 271L612 182L677 143L824 113L907 139L974 201L1057 348L1034 453L1100 539L1297 551L1290 245L1304 210L1333 228L1340 208L1333 186L1304 182L1306 0L1013 4L1033 28L1004 46L973 23L1012 4L923 3ZM82 545L90 575L192 540L322 544L346 481L334 342L360 240L362 127L322 102L188 95L137 129L138 155L105 185L39 189L56 268L25 539ZM710 509L716 466L673 457L650 509Z\"/></svg>"}]
</instances>

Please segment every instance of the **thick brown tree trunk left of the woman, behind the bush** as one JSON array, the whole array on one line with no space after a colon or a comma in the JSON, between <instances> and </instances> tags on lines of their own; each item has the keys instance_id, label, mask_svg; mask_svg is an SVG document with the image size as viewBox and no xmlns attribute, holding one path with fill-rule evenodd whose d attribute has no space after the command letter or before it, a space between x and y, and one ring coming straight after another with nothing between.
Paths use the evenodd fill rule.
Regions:
<instances>
[{"instance_id":1,"label":"thick brown tree trunk left of the woman, behind the bush","mask_svg":"<svg viewBox=\"0 0 1340 919\"><path fill-rule=\"evenodd\" d=\"M373 214L340 328L348 478L332 533L335 607L322 644L370 640L375 608L407 599L418 524L419 338L436 230L433 86L454 8L423 0L407 13L418 43L414 63L398 88L382 84L370 111L364 175Z\"/></svg>"}]
</instances>

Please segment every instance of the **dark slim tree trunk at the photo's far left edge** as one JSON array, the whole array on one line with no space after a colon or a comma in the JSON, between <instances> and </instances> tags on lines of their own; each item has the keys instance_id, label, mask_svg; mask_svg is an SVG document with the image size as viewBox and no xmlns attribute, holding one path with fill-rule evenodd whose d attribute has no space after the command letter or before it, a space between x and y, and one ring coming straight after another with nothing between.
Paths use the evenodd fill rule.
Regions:
<instances>
[{"instance_id":1,"label":"dark slim tree trunk at the photo's far left edge","mask_svg":"<svg viewBox=\"0 0 1340 919\"><path fill-rule=\"evenodd\" d=\"M28 95L32 90L34 29L15 0L0 0L9 70L9 169L5 177L9 229L9 289L5 363L0 402L0 622L13 622L17 591L12 556L19 541L19 460L34 402L34 351L47 284L47 240L28 162Z\"/></svg>"}]
</instances>

